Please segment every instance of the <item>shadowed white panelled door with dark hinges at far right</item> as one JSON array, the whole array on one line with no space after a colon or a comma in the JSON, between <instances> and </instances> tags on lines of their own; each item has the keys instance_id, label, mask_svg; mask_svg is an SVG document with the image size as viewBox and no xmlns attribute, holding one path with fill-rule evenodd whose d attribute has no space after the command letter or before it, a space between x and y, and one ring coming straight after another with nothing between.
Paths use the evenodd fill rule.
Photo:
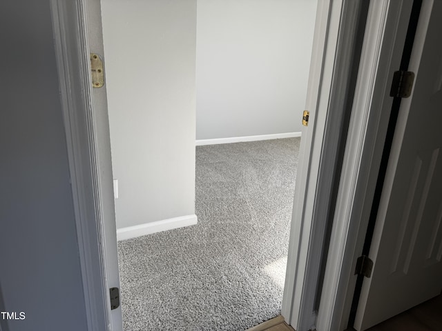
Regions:
<instances>
[{"instance_id":1,"label":"shadowed white panelled door with dark hinges at far right","mask_svg":"<svg viewBox=\"0 0 442 331\"><path fill-rule=\"evenodd\" d=\"M442 1L423 1L401 102L356 330L365 330L442 290Z\"/></svg>"}]
</instances>

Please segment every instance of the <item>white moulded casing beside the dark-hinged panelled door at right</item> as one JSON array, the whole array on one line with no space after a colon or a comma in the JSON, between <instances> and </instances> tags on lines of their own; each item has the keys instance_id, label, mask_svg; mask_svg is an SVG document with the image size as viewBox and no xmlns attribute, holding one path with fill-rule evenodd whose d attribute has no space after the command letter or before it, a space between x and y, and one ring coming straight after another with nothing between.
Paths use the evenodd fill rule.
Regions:
<instances>
[{"instance_id":1,"label":"white moulded casing beside the dark-hinged panelled door at right","mask_svg":"<svg viewBox=\"0 0 442 331\"><path fill-rule=\"evenodd\" d=\"M381 163L392 98L388 83L399 68L412 1L370 1L358 81L349 123L318 330L346 330ZM352 325L349 325L352 326Z\"/></svg>"}]
</instances>

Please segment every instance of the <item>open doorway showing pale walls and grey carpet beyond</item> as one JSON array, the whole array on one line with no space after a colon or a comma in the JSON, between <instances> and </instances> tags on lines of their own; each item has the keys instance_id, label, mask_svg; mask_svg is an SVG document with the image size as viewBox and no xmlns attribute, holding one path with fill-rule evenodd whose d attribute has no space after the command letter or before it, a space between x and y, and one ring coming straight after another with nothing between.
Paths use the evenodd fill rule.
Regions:
<instances>
[{"instance_id":1,"label":"open doorway showing pale walls and grey carpet beyond","mask_svg":"<svg viewBox=\"0 0 442 331\"><path fill-rule=\"evenodd\" d=\"M127 329L244 330L281 310L316 2L191 9L102 1L117 233L192 214L190 161L176 154L196 157L198 224L119 242ZM133 64L121 66L127 49ZM128 85L133 68L140 81ZM196 152L185 141L193 120L196 144L206 145ZM219 144L232 137L285 139Z\"/></svg>"}]
</instances>

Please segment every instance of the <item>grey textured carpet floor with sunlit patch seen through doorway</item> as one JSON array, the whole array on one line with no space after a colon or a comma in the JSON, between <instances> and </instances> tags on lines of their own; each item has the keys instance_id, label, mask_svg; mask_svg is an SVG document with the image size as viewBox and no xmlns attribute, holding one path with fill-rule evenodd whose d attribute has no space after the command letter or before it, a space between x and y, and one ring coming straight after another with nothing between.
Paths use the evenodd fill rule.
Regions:
<instances>
[{"instance_id":1,"label":"grey textured carpet floor with sunlit patch seen through doorway","mask_svg":"<svg viewBox=\"0 0 442 331\"><path fill-rule=\"evenodd\" d=\"M125 331L246 330L280 314L299 143L197 147L198 225L118 244Z\"/></svg>"}]
</instances>

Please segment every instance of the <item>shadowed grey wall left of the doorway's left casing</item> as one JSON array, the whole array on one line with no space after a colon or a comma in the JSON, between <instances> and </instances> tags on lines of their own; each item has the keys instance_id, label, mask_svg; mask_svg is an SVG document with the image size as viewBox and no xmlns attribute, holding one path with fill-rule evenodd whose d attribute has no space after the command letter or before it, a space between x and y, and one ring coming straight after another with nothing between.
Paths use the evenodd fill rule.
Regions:
<instances>
[{"instance_id":1,"label":"shadowed grey wall left of the doorway's left casing","mask_svg":"<svg viewBox=\"0 0 442 331\"><path fill-rule=\"evenodd\" d=\"M0 3L3 331L86 330L49 1Z\"/></svg>"}]
</instances>

